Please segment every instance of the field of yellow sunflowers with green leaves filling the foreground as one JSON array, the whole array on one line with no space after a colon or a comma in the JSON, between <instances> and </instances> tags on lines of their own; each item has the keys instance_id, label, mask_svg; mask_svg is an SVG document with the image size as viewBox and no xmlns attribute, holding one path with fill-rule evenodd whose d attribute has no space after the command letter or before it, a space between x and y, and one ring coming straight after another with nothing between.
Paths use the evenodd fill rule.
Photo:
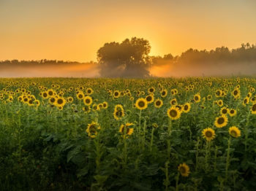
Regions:
<instances>
[{"instance_id":1,"label":"field of yellow sunflowers with green leaves filling the foreground","mask_svg":"<svg viewBox=\"0 0 256 191\"><path fill-rule=\"evenodd\" d=\"M255 190L256 79L0 79L0 190Z\"/></svg>"}]
</instances>

